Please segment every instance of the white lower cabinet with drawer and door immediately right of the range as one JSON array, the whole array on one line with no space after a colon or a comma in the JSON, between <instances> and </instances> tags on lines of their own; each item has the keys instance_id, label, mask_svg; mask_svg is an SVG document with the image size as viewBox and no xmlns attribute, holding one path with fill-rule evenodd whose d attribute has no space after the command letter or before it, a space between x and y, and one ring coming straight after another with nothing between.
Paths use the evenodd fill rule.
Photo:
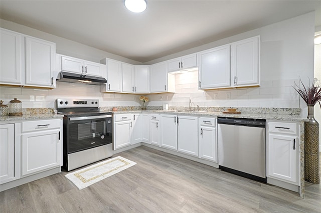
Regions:
<instances>
[{"instance_id":1,"label":"white lower cabinet with drawer and door immediately right of the range","mask_svg":"<svg viewBox=\"0 0 321 213\"><path fill-rule=\"evenodd\" d=\"M114 115L114 149L131 144L131 114Z\"/></svg>"}]
</instances>

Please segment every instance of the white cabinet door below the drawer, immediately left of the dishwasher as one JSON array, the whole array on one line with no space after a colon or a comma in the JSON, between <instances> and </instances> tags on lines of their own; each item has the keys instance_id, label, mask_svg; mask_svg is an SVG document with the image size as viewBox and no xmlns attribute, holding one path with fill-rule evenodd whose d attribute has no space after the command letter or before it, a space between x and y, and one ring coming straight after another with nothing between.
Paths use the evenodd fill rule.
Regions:
<instances>
[{"instance_id":1,"label":"white cabinet door below the drawer, immediately left of the dishwasher","mask_svg":"<svg viewBox=\"0 0 321 213\"><path fill-rule=\"evenodd\" d=\"M216 128L200 126L199 157L217 162Z\"/></svg>"}]
</instances>

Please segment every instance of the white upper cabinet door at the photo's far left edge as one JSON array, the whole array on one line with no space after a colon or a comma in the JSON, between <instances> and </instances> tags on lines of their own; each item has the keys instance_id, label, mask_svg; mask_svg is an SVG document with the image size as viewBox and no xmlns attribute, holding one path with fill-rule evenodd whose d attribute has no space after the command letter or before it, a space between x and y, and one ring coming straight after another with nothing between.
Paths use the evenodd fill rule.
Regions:
<instances>
[{"instance_id":1,"label":"white upper cabinet door at the photo's far left edge","mask_svg":"<svg viewBox=\"0 0 321 213\"><path fill-rule=\"evenodd\" d=\"M0 82L22 84L22 35L0 29Z\"/></svg>"}]
</instances>

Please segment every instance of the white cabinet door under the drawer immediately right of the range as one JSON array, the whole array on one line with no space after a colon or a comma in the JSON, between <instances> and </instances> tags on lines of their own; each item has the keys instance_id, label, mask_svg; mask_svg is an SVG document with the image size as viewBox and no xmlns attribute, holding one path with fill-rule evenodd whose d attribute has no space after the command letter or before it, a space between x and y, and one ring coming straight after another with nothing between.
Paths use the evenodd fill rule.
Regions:
<instances>
[{"instance_id":1,"label":"white cabinet door under the drawer immediately right of the range","mask_svg":"<svg viewBox=\"0 0 321 213\"><path fill-rule=\"evenodd\" d=\"M114 149L131 144L131 120L118 121L114 124Z\"/></svg>"}]
</instances>

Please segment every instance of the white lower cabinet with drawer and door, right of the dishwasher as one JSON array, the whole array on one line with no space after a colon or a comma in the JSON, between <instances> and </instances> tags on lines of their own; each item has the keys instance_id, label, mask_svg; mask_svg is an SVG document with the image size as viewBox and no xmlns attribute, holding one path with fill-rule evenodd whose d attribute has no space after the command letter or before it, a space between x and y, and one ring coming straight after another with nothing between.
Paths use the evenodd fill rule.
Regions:
<instances>
[{"instance_id":1,"label":"white lower cabinet with drawer and door, right of the dishwasher","mask_svg":"<svg viewBox=\"0 0 321 213\"><path fill-rule=\"evenodd\" d=\"M298 132L298 123L268 122L268 177L299 185Z\"/></svg>"}]
</instances>

